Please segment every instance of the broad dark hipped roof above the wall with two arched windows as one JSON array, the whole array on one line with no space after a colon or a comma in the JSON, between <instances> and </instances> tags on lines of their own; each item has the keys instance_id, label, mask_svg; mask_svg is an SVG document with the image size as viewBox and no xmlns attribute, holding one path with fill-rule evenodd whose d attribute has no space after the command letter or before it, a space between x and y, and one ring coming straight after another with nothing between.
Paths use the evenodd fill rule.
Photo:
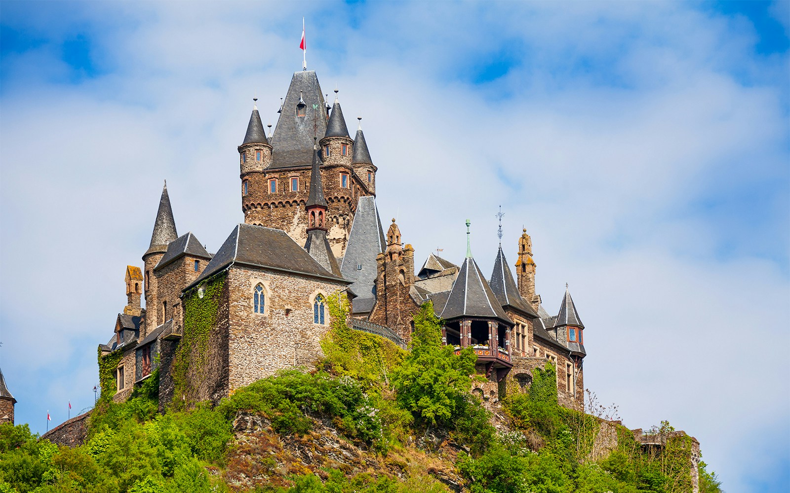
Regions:
<instances>
[{"instance_id":1,"label":"broad dark hipped roof above the wall with two arched windows","mask_svg":"<svg viewBox=\"0 0 790 493\"><path fill-rule=\"evenodd\" d=\"M231 263L346 282L322 267L288 233L241 223L233 228L228 239L209 261L209 265L186 289L197 286L203 279L224 270Z\"/></svg>"}]
</instances>

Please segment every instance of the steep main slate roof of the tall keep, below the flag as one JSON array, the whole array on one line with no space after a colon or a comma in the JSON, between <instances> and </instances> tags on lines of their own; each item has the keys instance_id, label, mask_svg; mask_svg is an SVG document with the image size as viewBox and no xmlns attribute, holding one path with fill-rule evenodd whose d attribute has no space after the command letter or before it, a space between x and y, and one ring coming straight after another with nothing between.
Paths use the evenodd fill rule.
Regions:
<instances>
[{"instance_id":1,"label":"steep main slate roof of the tall keep, below the flag","mask_svg":"<svg viewBox=\"0 0 790 493\"><path fill-rule=\"evenodd\" d=\"M296 105L300 98L307 105L303 117L296 116ZM318 107L314 109L313 105ZM318 125L315 133L314 124ZM269 168L310 166L313 137L320 137L325 133L326 108L318 77L314 70L295 72L274 128L270 143L273 148L272 164Z\"/></svg>"}]
</instances>

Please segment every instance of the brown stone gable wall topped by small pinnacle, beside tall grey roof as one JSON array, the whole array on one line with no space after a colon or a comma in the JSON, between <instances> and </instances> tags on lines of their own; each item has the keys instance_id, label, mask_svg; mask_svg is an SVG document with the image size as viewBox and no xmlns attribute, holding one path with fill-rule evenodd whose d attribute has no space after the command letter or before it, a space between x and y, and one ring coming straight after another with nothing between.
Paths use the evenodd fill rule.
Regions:
<instances>
[{"instance_id":1,"label":"brown stone gable wall topped by small pinnacle, beside tall grey roof","mask_svg":"<svg viewBox=\"0 0 790 493\"><path fill-rule=\"evenodd\" d=\"M410 295L414 285L414 248L401 243L401 230L393 223L387 230L387 248L376 257L376 304L370 321L395 329L402 338L411 338L412 316L419 305Z\"/></svg>"}]
</instances>

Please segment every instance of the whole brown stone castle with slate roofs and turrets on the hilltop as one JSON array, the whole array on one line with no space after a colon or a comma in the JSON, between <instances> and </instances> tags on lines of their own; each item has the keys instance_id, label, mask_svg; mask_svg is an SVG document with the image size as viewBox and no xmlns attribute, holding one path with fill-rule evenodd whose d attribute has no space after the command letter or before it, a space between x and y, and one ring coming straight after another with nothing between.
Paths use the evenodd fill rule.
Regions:
<instances>
[{"instance_id":1,"label":"whole brown stone castle with slate roofs and turrets on the hilltop","mask_svg":"<svg viewBox=\"0 0 790 493\"><path fill-rule=\"evenodd\" d=\"M330 106L316 74L297 72L278 113L267 136L252 110L238 148L244 222L216 253L192 232L179 236L165 184L144 265L126 267L126 307L99 346L103 392L124 400L159 368L162 405L218 401L309 365L329 330L326 302L340 292L351 327L402 346L412 315L432 301L444 342L476 353L484 399L528 387L532 368L551 360L560 403L583 407L584 325L567 290L557 315L544 309L526 230L515 280L501 246L489 278L469 248L460 265L431 253L415 273L395 219L384 233L378 169L361 125L348 133L337 96Z\"/></svg>"}]
</instances>

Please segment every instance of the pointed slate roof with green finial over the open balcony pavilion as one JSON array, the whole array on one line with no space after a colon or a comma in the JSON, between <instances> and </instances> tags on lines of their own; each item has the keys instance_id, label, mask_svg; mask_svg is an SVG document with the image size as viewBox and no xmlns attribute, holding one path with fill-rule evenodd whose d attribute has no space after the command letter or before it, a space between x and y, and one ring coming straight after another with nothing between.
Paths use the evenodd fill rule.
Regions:
<instances>
[{"instance_id":1,"label":"pointed slate roof with green finial over the open balcony pavilion","mask_svg":"<svg viewBox=\"0 0 790 493\"><path fill-rule=\"evenodd\" d=\"M453 289L450 289L450 297L441 317L446 320L465 317L490 318L513 324L471 256L466 257L461 265L461 271L453 283Z\"/></svg>"}]
</instances>

